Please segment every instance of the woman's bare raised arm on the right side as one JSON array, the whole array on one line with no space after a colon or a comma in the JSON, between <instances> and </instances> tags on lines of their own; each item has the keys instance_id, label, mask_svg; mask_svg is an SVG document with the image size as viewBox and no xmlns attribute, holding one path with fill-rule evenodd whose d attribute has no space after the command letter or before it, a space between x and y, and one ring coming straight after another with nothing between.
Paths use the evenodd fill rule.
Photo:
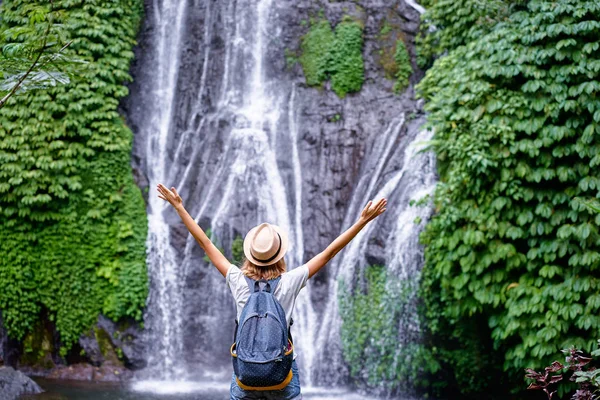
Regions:
<instances>
[{"instance_id":1,"label":"woman's bare raised arm on the right side","mask_svg":"<svg viewBox=\"0 0 600 400\"><path fill-rule=\"evenodd\" d=\"M386 199L381 199L377 204L373 205L372 201L369 201L367 206L363 209L360 214L358 221L354 223L346 232L338 236L325 250L314 256L309 262L306 263L308 267L308 277L311 278L314 274L319 272L321 268L325 266L340 250L342 250L354 237L364 228L370 221L380 216L387 205Z\"/></svg>"}]
</instances>

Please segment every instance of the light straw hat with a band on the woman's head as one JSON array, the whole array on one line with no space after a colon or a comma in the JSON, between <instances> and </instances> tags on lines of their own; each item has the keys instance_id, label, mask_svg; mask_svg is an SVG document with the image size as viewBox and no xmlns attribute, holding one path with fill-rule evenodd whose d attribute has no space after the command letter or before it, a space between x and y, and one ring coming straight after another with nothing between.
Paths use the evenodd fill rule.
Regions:
<instances>
[{"instance_id":1,"label":"light straw hat with a band on the woman's head","mask_svg":"<svg viewBox=\"0 0 600 400\"><path fill-rule=\"evenodd\" d=\"M244 238L244 255L255 265L266 267L281 260L288 248L288 237L277 225L260 224Z\"/></svg>"}]
</instances>

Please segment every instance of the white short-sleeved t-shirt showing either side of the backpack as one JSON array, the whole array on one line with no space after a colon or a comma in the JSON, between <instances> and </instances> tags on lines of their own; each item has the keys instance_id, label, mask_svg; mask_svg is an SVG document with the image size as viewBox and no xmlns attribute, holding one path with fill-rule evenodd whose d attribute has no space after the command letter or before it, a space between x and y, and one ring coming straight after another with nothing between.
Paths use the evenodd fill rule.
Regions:
<instances>
[{"instance_id":1,"label":"white short-sleeved t-shirt showing either side of the backpack","mask_svg":"<svg viewBox=\"0 0 600 400\"><path fill-rule=\"evenodd\" d=\"M242 308L244 308L250 297L248 282L246 282L246 279L244 278L244 273L235 265L231 265L227 270L225 280L235 299L237 319L239 321L240 315L242 315ZM296 297L298 296L298 293L300 293L300 289L306 286L307 280L308 267L306 265L294 268L281 275L279 284L273 293L273 296L275 296L277 301L279 301L279 304L281 304L281 307L283 307L283 311L285 311L288 328L290 327L290 319L292 318L292 312L296 305Z\"/></svg>"}]
</instances>

